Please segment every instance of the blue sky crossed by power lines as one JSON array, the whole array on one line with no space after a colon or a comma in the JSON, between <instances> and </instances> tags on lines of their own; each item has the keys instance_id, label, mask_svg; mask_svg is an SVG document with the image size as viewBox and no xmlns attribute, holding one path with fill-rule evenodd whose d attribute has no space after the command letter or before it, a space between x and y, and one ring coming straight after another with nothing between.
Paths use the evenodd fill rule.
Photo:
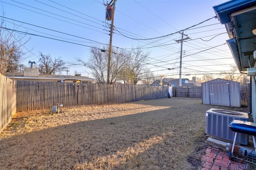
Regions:
<instances>
[{"instance_id":1,"label":"blue sky crossed by power lines","mask_svg":"<svg viewBox=\"0 0 256 170\"><path fill-rule=\"evenodd\" d=\"M181 34L173 33L214 17L212 6L223 2L226 0L117 0L112 45L125 50L140 45L143 50L150 51L150 65L147 67L155 75L179 78L177 67L180 65L181 44L175 40L180 40ZM0 0L0 3L1 16L4 12L4 17L12 19L6 19L8 28L15 27L20 32L38 35L26 36L30 40L23 50L32 49L23 60L27 67L30 66L28 61L38 63L40 51L64 61L74 61L74 57L87 61L90 46L109 42L110 29L106 23L110 24L110 21L105 20L106 7L103 5L106 0ZM169 34L172 35L166 36ZM228 71L230 65L234 65L228 45L223 45L228 40L226 29L218 19L194 26L184 34L190 40L183 42L182 78ZM157 38L160 36L164 37ZM76 70L91 77L90 70L84 66L68 68L68 75L74 75Z\"/></svg>"}]
</instances>

